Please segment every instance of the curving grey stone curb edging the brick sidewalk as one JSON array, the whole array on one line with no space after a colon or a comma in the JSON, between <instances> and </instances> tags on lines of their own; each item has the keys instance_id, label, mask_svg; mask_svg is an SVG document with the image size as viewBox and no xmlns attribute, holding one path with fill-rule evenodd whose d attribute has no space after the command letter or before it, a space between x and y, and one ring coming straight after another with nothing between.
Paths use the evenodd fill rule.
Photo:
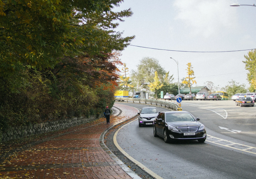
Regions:
<instances>
[{"instance_id":1,"label":"curving grey stone curb edging the brick sidewalk","mask_svg":"<svg viewBox=\"0 0 256 179\"><path fill-rule=\"evenodd\" d=\"M115 108L117 108L117 107L115 107ZM119 109L119 108L117 108L117 109ZM135 109L136 109L136 108L135 108ZM120 109L119 109L119 110L120 110ZM138 110L138 109L137 109L137 110ZM138 112L140 112L140 111L138 110ZM111 150L109 150L109 148L108 148L108 147L105 145L105 143L104 143L104 136L106 135L106 133L108 133L111 129L113 129L113 128L116 127L117 125L120 125L120 124L122 124L122 123L125 123L125 122L127 122L128 120L131 120L132 118L134 118L134 117L136 117L136 116L138 116L138 115L135 115L135 116L133 116L133 117L131 117L131 118L129 118L129 119L126 119L126 120L120 122L120 123L116 123L115 125L110 126L108 129L106 129L104 132L101 133L99 141L100 141L100 146L108 153L108 155L109 155L113 160L115 160L115 162L125 171L125 173L127 173L129 176L131 176L131 177L134 178L134 179L141 179L141 177L139 177L139 175L137 175L136 173L134 173L134 172L133 172L129 167L127 167L121 160L119 160L119 159L116 157L116 155L115 155Z\"/></svg>"}]
</instances>

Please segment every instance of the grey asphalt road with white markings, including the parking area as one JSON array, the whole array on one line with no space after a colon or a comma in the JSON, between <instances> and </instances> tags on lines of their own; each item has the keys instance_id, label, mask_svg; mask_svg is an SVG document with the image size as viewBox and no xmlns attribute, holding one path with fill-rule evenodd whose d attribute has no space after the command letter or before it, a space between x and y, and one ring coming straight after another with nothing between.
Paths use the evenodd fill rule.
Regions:
<instances>
[{"instance_id":1,"label":"grey asphalt road with white markings, including the parking area","mask_svg":"<svg viewBox=\"0 0 256 179\"><path fill-rule=\"evenodd\" d=\"M152 127L139 127L136 120L118 132L118 145L164 179L256 178L255 107L236 106L234 101L182 101L182 109L206 126L205 143L166 144L162 138L153 137Z\"/></svg>"}]
</instances>

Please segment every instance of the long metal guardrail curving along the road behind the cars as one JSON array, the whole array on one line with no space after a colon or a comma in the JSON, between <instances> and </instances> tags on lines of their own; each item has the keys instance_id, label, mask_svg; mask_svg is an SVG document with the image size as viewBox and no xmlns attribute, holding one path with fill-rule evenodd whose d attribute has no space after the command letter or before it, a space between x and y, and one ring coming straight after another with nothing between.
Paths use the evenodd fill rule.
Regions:
<instances>
[{"instance_id":1,"label":"long metal guardrail curving along the road behind the cars","mask_svg":"<svg viewBox=\"0 0 256 179\"><path fill-rule=\"evenodd\" d=\"M167 101L160 101L160 100L149 100L149 99L140 99L140 98L115 98L115 100L117 101L132 101L134 103L134 101L139 101L140 102L145 102L145 104L147 103L150 103L152 105L153 104L156 104L157 105L160 105L160 106L163 106L165 108L171 108L175 111L178 110L179 106L177 104L174 104L174 103L171 103L171 102L167 102Z\"/></svg>"}]
</instances>

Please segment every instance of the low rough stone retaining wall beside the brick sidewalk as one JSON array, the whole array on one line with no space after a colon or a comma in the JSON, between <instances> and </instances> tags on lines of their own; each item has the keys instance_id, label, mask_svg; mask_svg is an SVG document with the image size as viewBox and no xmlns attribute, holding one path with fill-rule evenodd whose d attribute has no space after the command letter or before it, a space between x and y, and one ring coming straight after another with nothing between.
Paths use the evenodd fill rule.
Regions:
<instances>
[{"instance_id":1,"label":"low rough stone retaining wall beside the brick sidewalk","mask_svg":"<svg viewBox=\"0 0 256 179\"><path fill-rule=\"evenodd\" d=\"M0 135L0 142L9 141L16 138L24 138L26 136L31 136L34 134L42 134L51 131L59 131L61 129L74 127L80 124L88 123L96 120L96 116L91 116L89 118L85 117L74 117L71 119L62 119L58 121L49 121L45 123L30 124L28 126L17 126L10 127L2 136Z\"/></svg>"}]
</instances>

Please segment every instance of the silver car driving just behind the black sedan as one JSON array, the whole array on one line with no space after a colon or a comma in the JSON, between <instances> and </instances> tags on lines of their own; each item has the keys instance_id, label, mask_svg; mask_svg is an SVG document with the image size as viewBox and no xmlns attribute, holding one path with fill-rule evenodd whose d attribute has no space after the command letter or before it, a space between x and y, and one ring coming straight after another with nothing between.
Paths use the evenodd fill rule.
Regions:
<instances>
[{"instance_id":1,"label":"silver car driving just behind the black sedan","mask_svg":"<svg viewBox=\"0 0 256 179\"><path fill-rule=\"evenodd\" d=\"M142 125L153 125L153 121L158 115L158 111L156 107L147 107L142 108L141 112L138 113L140 116L138 117L139 127Z\"/></svg>"}]
</instances>

